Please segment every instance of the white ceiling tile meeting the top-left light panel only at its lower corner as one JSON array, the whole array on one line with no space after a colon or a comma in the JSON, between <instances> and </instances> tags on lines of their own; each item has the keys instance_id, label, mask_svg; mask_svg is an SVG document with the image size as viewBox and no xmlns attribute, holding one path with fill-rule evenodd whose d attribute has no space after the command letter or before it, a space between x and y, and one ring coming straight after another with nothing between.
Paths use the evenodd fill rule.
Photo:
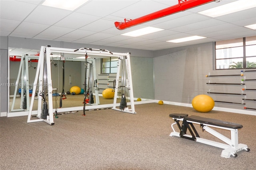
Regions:
<instances>
[{"instance_id":1,"label":"white ceiling tile meeting the top-left light panel only at its lower corner","mask_svg":"<svg viewBox=\"0 0 256 170\"><path fill-rule=\"evenodd\" d=\"M78 29L98 19L100 19L98 16L73 12L69 16L66 16L66 18L54 24L54 26Z\"/></svg>"}]
</instances>

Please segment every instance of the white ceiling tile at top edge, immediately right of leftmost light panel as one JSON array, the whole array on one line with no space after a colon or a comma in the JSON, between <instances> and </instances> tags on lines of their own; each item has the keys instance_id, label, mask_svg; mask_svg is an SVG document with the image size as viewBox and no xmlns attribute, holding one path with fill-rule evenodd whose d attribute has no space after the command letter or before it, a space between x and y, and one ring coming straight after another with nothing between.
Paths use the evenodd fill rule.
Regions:
<instances>
[{"instance_id":1,"label":"white ceiling tile at top edge, immediately right of leftmost light panel","mask_svg":"<svg viewBox=\"0 0 256 170\"><path fill-rule=\"evenodd\" d=\"M130 6L136 3L134 0L95 0L89 1L84 6L76 10L83 14L90 14L94 16L104 17L118 11L119 9Z\"/></svg>"}]
</instances>

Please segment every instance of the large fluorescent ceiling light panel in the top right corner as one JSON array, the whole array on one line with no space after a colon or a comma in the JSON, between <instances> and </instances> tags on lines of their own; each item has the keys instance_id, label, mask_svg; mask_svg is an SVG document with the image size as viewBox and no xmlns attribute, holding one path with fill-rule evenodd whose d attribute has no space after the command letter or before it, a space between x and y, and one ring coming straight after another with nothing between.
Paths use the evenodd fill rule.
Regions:
<instances>
[{"instance_id":1,"label":"large fluorescent ceiling light panel in the top right corner","mask_svg":"<svg viewBox=\"0 0 256 170\"><path fill-rule=\"evenodd\" d=\"M198 13L206 16L210 16L210 17L218 17L218 16L223 16L226 14L231 14L234 12L246 10L249 8L254 8L254 7L256 7L256 0L238 0L235 2L217 6L215 8L204 10Z\"/></svg>"}]
</instances>

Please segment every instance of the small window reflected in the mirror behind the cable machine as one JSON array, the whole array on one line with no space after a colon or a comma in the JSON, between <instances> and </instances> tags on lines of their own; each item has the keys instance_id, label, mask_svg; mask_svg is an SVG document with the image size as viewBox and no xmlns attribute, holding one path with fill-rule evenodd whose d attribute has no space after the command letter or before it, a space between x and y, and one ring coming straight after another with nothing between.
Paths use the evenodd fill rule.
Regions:
<instances>
[{"instance_id":1,"label":"small window reflected in the mirror behind the cable machine","mask_svg":"<svg viewBox=\"0 0 256 170\"><path fill-rule=\"evenodd\" d=\"M117 57L102 58L102 74L117 73Z\"/></svg>"}]
</instances>

